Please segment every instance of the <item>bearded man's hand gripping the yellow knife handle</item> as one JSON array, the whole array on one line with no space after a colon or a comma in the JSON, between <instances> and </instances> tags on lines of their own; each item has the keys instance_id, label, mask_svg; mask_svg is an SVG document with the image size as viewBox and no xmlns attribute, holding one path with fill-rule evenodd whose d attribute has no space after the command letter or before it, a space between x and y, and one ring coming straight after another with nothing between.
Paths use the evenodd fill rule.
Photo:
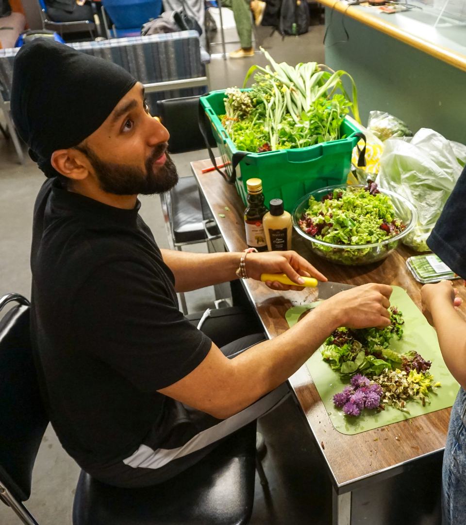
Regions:
<instances>
[{"instance_id":1,"label":"bearded man's hand gripping the yellow knife handle","mask_svg":"<svg viewBox=\"0 0 466 525\"><path fill-rule=\"evenodd\" d=\"M261 274L286 274L296 286L283 285L277 281L266 281L272 290L302 290L299 286L300 276L315 277L319 281L326 281L327 277L317 271L309 262L298 255L296 251L261 251L246 255L246 274L257 281ZM304 282L304 281L301 281Z\"/></svg>"}]
</instances>

